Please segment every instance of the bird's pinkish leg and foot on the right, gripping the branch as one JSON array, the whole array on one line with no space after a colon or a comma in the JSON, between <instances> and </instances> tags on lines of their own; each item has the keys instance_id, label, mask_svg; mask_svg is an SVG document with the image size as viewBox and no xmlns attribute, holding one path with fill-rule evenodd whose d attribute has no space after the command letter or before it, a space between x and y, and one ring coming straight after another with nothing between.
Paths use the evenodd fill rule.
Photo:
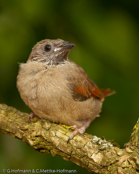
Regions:
<instances>
[{"instance_id":1,"label":"bird's pinkish leg and foot on the right, gripping the branch","mask_svg":"<svg viewBox=\"0 0 139 174\"><path fill-rule=\"evenodd\" d=\"M69 136L69 140L71 140L77 133L83 134L86 128L90 125L90 120L86 121L85 124L81 128L77 128L76 125L73 125L72 128L75 129Z\"/></svg>"}]
</instances>

